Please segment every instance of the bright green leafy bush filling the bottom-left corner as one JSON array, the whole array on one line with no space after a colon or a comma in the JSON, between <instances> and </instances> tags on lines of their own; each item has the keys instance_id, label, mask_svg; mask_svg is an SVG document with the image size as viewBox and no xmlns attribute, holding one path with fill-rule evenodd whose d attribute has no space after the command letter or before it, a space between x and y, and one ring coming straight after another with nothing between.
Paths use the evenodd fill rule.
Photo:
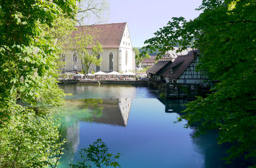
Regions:
<instances>
[{"instance_id":1,"label":"bright green leafy bush filling the bottom-left corner","mask_svg":"<svg viewBox=\"0 0 256 168\"><path fill-rule=\"evenodd\" d=\"M13 105L9 122L0 129L0 167L54 166L64 141L49 115Z\"/></svg>"}]
</instances>

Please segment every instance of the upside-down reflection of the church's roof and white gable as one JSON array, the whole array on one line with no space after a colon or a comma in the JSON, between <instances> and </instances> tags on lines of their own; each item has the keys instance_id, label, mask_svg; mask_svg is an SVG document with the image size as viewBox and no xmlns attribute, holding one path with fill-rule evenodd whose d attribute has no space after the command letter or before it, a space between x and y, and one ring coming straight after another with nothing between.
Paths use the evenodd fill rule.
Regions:
<instances>
[{"instance_id":1,"label":"upside-down reflection of the church's roof and white gable","mask_svg":"<svg viewBox=\"0 0 256 168\"><path fill-rule=\"evenodd\" d=\"M129 111L132 105L132 98L105 99L98 107L102 107L101 117L93 118L93 123L104 123L109 125L126 126L129 118ZM93 110L93 109L92 109Z\"/></svg>"}]
</instances>

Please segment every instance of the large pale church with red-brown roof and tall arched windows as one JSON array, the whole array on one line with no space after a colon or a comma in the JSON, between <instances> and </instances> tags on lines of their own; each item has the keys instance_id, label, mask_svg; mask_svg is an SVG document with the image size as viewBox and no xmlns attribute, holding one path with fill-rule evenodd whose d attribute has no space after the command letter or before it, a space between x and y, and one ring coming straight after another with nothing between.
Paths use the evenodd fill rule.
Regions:
<instances>
[{"instance_id":1,"label":"large pale church with red-brown roof and tall arched windows","mask_svg":"<svg viewBox=\"0 0 256 168\"><path fill-rule=\"evenodd\" d=\"M84 32L83 30L86 31ZM90 71L134 71L135 53L132 50L132 41L127 22L103 25L77 26L76 32L88 33L94 41L101 43L103 52L98 58L102 58L101 66L90 65ZM76 33L74 32L74 33ZM93 46L88 46L91 52ZM64 53L64 71L81 71L82 64L75 50Z\"/></svg>"}]
</instances>

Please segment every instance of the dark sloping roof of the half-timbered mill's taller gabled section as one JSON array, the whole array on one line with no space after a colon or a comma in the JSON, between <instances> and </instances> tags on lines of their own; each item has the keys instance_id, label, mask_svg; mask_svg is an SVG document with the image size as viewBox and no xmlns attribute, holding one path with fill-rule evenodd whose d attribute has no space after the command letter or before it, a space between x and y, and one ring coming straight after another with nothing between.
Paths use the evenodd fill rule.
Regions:
<instances>
[{"instance_id":1,"label":"dark sloping roof of the half-timbered mill's taller gabled section","mask_svg":"<svg viewBox=\"0 0 256 168\"><path fill-rule=\"evenodd\" d=\"M186 68L192 63L192 61L197 58L198 50L192 50L184 56L178 56L173 63L166 66L161 72L161 76L168 77L171 79L179 79L179 76L183 74ZM171 68L173 72L171 74Z\"/></svg>"}]
</instances>

